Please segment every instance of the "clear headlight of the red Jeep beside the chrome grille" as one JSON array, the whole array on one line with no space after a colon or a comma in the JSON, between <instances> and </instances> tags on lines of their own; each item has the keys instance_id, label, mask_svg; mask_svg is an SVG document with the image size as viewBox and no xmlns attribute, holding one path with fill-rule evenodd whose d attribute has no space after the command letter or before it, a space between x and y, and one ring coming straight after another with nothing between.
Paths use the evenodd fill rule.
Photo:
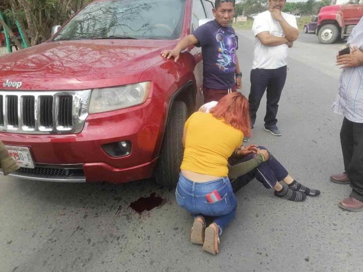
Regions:
<instances>
[{"instance_id":1,"label":"clear headlight of the red Jeep beside the chrome grille","mask_svg":"<svg viewBox=\"0 0 363 272\"><path fill-rule=\"evenodd\" d=\"M150 82L93 89L89 113L99 113L142 104L149 96Z\"/></svg>"}]
</instances>

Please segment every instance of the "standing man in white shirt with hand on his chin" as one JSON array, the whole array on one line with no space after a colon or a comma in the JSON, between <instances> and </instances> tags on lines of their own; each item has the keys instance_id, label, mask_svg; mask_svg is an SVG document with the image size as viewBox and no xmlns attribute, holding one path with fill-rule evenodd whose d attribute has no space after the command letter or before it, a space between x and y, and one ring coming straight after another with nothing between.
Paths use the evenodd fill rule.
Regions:
<instances>
[{"instance_id":1,"label":"standing man in white shirt with hand on his chin","mask_svg":"<svg viewBox=\"0 0 363 272\"><path fill-rule=\"evenodd\" d=\"M281 135L276 125L276 115L286 80L287 51L299 36L295 17L281 12L285 4L286 0L269 0L269 9L259 13L252 26L255 46L248 97L251 126L254 125L257 109L267 88L264 129L276 136ZM243 141L248 140L245 138Z\"/></svg>"}]
</instances>

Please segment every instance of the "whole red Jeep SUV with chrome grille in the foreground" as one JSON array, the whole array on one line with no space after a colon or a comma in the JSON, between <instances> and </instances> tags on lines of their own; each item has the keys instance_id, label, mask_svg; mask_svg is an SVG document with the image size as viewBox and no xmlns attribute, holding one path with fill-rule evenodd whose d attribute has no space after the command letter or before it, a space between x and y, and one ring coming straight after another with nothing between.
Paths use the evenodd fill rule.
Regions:
<instances>
[{"instance_id":1,"label":"whole red Jeep SUV with chrome grille in the foreground","mask_svg":"<svg viewBox=\"0 0 363 272\"><path fill-rule=\"evenodd\" d=\"M95 0L48 41L0 57L0 139L32 180L174 185L202 55L172 49L209 0Z\"/></svg>"}]
</instances>

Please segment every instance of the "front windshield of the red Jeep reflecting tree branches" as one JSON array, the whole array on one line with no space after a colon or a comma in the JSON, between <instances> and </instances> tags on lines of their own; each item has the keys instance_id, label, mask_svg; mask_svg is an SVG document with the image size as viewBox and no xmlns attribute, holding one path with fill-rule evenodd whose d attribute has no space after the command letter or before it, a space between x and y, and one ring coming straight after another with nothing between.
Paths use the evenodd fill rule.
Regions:
<instances>
[{"instance_id":1,"label":"front windshield of the red Jeep reflecting tree branches","mask_svg":"<svg viewBox=\"0 0 363 272\"><path fill-rule=\"evenodd\" d=\"M53 39L160 39L180 37L185 0L92 2Z\"/></svg>"}]
</instances>

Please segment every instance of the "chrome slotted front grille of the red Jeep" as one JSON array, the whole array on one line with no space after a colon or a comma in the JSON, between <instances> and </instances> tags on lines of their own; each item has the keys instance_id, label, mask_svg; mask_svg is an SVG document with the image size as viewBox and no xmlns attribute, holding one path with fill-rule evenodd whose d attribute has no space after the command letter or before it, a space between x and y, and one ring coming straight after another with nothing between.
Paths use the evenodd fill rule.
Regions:
<instances>
[{"instance_id":1,"label":"chrome slotted front grille of the red Jeep","mask_svg":"<svg viewBox=\"0 0 363 272\"><path fill-rule=\"evenodd\" d=\"M78 133L88 116L91 90L0 91L0 131Z\"/></svg>"}]
</instances>

